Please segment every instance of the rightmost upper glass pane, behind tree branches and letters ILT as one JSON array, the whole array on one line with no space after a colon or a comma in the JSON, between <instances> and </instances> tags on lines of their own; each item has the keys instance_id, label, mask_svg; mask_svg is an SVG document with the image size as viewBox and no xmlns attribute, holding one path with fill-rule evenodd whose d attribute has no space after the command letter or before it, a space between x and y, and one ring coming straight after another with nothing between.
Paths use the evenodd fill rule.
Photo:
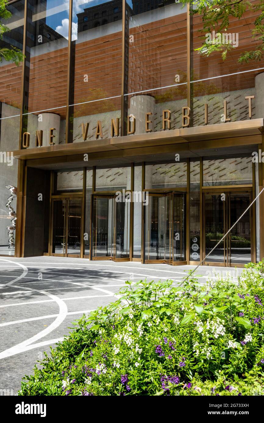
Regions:
<instances>
[{"instance_id":1,"label":"rightmost upper glass pane, behind tree branches and letters ILT","mask_svg":"<svg viewBox=\"0 0 264 423\"><path fill-rule=\"evenodd\" d=\"M254 2L250 3L254 6ZM211 33L206 33L207 39L210 36L216 44L218 40L223 44L231 42L233 48L227 53L225 60L221 51L210 55L202 55L197 51L205 42L205 33L201 32L203 17L197 14L193 16L193 126L220 124L229 121L226 119L243 121L262 117L255 107L258 95L258 81L255 78L264 71L264 60L239 62L242 53L255 50L261 43L261 40L252 36L254 21L260 14L261 11L256 8L247 7L242 18L229 17L228 30L219 30L216 27L214 32L211 30ZM248 96L255 96L255 99L250 100L251 114L249 99L245 99ZM204 104L208 107L206 119Z\"/></svg>"}]
</instances>

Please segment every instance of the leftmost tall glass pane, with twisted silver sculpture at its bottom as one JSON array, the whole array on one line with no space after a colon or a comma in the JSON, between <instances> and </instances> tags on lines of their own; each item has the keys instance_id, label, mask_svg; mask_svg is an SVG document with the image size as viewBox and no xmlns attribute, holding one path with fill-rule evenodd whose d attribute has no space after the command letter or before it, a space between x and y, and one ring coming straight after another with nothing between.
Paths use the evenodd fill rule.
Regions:
<instances>
[{"instance_id":1,"label":"leftmost tall glass pane, with twisted silver sculpture at its bottom","mask_svg":"<svg viewBox=\"0 0 264 423\"><path fill-rule=\"evenodd\" d=\"M24 1L7 6L11 17L2 24L0 48L23 49ZM22 63L0 61L0 254L14 255L17 213L18 161L11 151L19 148Z\"/></svg>"}]
</instances>

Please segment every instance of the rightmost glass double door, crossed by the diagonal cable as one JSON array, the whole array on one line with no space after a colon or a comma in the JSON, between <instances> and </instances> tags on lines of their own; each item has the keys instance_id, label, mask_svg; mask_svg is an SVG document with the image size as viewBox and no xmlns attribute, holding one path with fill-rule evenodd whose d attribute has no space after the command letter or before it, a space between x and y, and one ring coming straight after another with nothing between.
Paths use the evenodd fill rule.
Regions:
<instances>
[{"instance_id":1,"label":"rightmost glass double door, crossed by the diagonal cable","mask_svg":"<svg viewBox=\"0 0 264 423\"><path fill-rule=\"evenodd\" d=\"M251 197L251 192L204 193L204 257L247 209ZM251 220L249 209L205 262L220 266L249 263L252 260Z\"/></svg>"}]
</instances>

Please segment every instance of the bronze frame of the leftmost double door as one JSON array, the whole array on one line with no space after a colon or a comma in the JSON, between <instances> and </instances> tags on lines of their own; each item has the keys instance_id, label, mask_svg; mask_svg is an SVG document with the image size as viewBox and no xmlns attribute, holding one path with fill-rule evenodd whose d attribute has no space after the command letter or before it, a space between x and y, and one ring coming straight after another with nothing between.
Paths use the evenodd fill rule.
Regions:
<instances>
[{"instance_id":1,"label":"bronze frame of the leftmost double door","mask_svg":"<svg viewBox=\"0 0 264 423\"><path fill-rule=\"evenodd\" d=\"M76 199L81 201L81 210L82 210L82 204L83 204L83 198L80 196L80 194L64 194L64 195L52 195L52 207L51 207L51 226L50 226L50 255L55 257L73 257L73 258L81 258L82 254L82 236L80 235L80 254L69 254L68 253L68 229L69 229L69 201L71 199ZM52 246L53 246L53 217L54 217L54 202L55 201L65 201L65 209L64 209L64 235L63 235L63 253L53 253L52 252ZM81 213L81 228L82 228L82 222L83 222L83 214Z\"/></svg>"}]
</instances>

